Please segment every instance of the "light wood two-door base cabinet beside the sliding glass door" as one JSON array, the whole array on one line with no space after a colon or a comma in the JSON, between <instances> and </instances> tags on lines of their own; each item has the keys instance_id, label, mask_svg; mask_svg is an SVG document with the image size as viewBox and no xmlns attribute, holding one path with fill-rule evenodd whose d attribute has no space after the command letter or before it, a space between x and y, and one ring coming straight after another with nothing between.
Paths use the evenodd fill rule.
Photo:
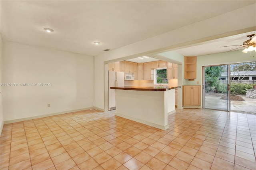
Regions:
<instances>
[{"instance_id":1,"label":"light wood two-door base cabinet beside the sliding glass door","mask_svg":"<svg viewBox=\"0 0 256 170\"><path fill-rule=\"evenodd\" d=\"M183 86L183 106L200 106L201 86Z\"/></svg>"}]
</instances>

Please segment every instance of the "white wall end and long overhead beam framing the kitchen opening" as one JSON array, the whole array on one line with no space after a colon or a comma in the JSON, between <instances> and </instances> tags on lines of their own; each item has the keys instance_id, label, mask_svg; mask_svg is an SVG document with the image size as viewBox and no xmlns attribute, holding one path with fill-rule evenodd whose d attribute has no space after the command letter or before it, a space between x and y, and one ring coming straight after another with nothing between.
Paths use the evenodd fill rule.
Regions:
<instances>
[{"instance_id":1,"label":"white wall end and long overhead beam framing the kitchen opening","mask_svg":"<svg viewBox=\"0 0 256 170\"><path fill-rule=\"evenodd\" d=\"M95 56L95 106L100 109L108 109L108 69L107 65L104 67L104 64L254 31L255 22L252 22L256 18L254 9L255 5L246 6ZM248 15L252 18L248 18ZM179 67L178 70L182 71L182 67Z\"/></svg>"}]
</instances>

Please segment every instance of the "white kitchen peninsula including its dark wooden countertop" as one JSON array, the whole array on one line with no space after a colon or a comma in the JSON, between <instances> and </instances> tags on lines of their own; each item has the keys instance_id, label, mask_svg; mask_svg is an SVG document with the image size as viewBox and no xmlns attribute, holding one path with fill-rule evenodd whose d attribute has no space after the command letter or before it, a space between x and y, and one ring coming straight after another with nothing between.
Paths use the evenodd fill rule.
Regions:
<instances>
[{"instance_id":1,"label":"white kitchen peninsula including its dark wooden countertop","mask_svg":"<svg viewBox=\"0 0 256 170\"><path fill-rule=\"evenodd\" d=\"M116 89L116 116L166 130L175 113L178 87L110 87Z\"/></svg>"}]
</instances>

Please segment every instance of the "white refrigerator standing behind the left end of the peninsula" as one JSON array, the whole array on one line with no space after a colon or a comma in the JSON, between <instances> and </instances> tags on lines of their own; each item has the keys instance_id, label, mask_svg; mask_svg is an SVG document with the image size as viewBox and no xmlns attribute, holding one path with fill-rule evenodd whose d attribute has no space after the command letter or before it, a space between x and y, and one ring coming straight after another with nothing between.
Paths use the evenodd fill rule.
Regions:
<instances>
[{"instance_id":1,"label":"white refrigerator standing behind the left end of the peninsula","mask_svg":"<svg viewBox=\"0 0 256 170\"><path fill-rule=\"evenodd\" d=\"M108 71L108 110L116 109L116 90L110 87L124 86L124 73Z\"/></svg>"}]
</instances>

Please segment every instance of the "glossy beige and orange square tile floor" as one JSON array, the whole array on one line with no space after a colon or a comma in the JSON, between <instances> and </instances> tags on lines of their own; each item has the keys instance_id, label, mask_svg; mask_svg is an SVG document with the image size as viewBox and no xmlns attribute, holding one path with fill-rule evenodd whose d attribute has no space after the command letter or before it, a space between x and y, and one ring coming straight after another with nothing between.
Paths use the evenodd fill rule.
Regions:
<instances>
[{"instance_id":1,"label":"glossy beige and orange square tile floor","mask_svg":"<svg viewBox=\"0 0 256 170\"><path fill-rule=\"evenodd\" d=\"M168 123L80 111L7 124L0 169L256 169L256 115L177 109Z\"/></svg>"}]
</instances>

